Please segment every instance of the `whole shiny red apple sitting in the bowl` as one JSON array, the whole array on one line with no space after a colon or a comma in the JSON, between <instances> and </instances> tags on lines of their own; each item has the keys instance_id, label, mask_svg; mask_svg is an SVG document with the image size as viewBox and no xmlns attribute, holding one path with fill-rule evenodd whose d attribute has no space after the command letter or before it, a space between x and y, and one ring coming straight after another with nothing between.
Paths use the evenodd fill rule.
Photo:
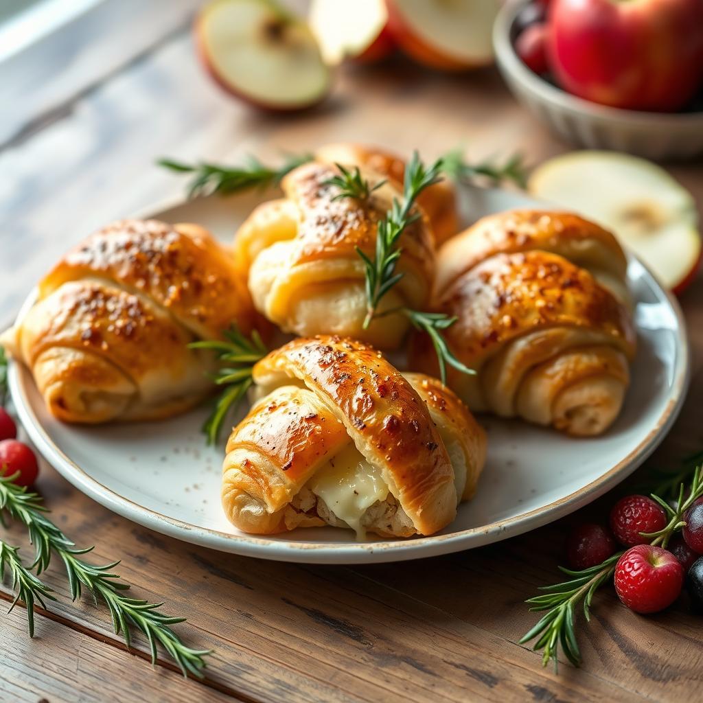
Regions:
<instances>
[{"instance_id":1,"label":"whole shiny red apple sitting in the bowl","mask_svg":"<svg viewBox=\"0 0 703 703\"><path fill-rule=\"evenodd\" d=\"M548 61L574 95L673 112L703 77L701 0L552 0Z\"/></svg>"}]
</instances>

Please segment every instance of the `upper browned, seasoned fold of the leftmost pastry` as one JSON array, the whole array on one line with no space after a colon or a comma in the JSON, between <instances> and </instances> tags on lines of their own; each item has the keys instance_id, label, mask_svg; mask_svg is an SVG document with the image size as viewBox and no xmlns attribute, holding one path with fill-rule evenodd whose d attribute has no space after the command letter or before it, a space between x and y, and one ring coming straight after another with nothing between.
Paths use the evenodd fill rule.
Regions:
<instances>
[{"instance_id":1,"label":"upper browned, seasoned fold of the leftmost pastry","mask_svg":"<svg viewBox=\"0 0 703 703\"><path fill-rule=\"evenodd\" d=\"M121 220L68 252L39 285L46 297L62 283L107 278L168 309L202 337L237 322L248 331L252 305L231 257L197 225Z\"/></svg>"}]
</instances>

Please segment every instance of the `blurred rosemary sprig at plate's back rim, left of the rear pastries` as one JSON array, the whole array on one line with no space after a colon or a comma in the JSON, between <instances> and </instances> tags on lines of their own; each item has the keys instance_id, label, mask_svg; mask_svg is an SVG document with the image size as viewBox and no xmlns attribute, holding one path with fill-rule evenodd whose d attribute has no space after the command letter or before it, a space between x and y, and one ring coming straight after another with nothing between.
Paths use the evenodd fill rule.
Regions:
<instances>
[{"instance_id":1,"label":"blurred rosemary sprig at plate's back rim, left of the rear pastries","mask_svg":"<svg viewBox=\"0 0 703 703\"><path fill-rule=\"evenodd\" d=\"M184 164L172 159L160 159L157 164L176 173L193 174L188 186L188 198L195 198L198 195L231 195L252 188L278 186L285 174L312 158L311 154L289 155L279 167L266 166L254 156L250 156L243 166L231 167L206 162Z\"/></svg>"}]
</instances>

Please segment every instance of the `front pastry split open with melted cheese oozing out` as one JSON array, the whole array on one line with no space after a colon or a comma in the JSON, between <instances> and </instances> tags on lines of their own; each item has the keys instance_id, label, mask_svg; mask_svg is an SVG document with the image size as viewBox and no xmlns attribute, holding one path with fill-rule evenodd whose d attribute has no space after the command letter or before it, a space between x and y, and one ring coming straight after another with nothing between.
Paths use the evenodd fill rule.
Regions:
<instances>
[{"instance_id":1,"label":"front pastry split open with melted cheese oozing out","mask_svg":"<svg viewBox=\"0 0 703 703\"><path fill-rule=\"evenodd\" d=\"M222 505L238 529L325 524L432 534L470 498L486 437L434 378L361 342L298 339L254 366L261 399L227 442Z\"/></svg>"}]
</instances>

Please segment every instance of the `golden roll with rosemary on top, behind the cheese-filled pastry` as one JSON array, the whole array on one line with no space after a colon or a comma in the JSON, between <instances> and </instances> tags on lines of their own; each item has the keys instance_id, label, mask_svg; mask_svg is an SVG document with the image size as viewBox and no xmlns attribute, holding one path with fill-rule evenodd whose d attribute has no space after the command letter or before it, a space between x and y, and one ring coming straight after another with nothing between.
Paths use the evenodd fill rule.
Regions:
<instances>
[{"instance_id":1,"label":"golden roll with rosemary on top, behind the cheese-filled pastry","mask_svg":"<svg viewBox=\"0 0 703 703\"><path fill-rule=\"evenodd\" d=\"M388 182L363 202L335 199L340 188L328 181L337 174L333 165L311 162L285 176L286 198L254 209L237 233L236 258L255 307L284 331L346 335L392 349L409 323L389 315L363 329L366 274L356 249L373 257L378 221L400 193ZM381 180L375 172L363 176L372 185ZM406 227L399 246L397 271L404 276L382 299L380 312L422 309L430 299L434 246L425 218Z\"/></svg>"}]
</instances>

